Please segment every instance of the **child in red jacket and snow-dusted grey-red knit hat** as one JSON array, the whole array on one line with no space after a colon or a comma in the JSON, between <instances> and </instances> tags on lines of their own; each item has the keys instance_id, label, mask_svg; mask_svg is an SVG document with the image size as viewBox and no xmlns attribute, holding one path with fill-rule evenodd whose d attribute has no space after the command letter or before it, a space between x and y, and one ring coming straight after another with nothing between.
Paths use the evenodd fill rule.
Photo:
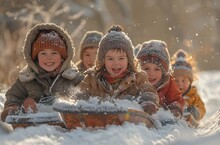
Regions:
<instances>
[{"instance_id":1,"label":"child in red jacket and snow-dusted grey-red knit hat","mask_svg":"<svg viewBox=\"0 0 220 145\"><path fill-rule=\"evenodd\" d=\"M181 118L184 102L169 71L170 55L166 43L159 40L144 42L137 58L158 92L160 105L164 109L170 109L177 118Z\"/></svg>"}]
</instances>

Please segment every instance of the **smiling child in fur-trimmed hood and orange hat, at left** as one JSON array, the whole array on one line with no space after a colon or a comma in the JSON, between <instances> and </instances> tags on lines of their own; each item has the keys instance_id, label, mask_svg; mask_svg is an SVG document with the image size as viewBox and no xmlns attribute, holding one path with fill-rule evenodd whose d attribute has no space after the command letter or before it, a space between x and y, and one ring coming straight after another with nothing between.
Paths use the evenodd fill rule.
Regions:
<instances>
[{"instance_id":1,"label":"smiling child in fur-trimmed hood and orange hat, at left","mask_svg":"<svg viewBox=\"0 0 220 145\"><path fill-rule=\"evenodd\" d=\"M24 57L27 66L6 92L1 119L16 115L24 107L36 111L40 99L62 95L68 96L68 89L78 85L82 75L71 62L74 47L68 33L61 27L44 23L33 27L26 35Z\"/></svg>"}]
</instances>

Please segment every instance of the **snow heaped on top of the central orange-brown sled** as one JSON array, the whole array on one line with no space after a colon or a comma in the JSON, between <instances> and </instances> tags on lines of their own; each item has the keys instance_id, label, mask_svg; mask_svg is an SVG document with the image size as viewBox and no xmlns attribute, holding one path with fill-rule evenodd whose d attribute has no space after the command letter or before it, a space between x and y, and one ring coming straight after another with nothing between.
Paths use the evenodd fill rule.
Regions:
<instances>
[{"instance_id":1,"label":"snow heaped on top of the central orange-brown sled","mask_svg":"<svg viewBox=\"0 0 220 145\"><path fill-rule=\"evenodd\" d=\"M98 97L91 97L89 100L77 101L59 99L54 104L54 110L62 112L127 112L128 109L143 111L136 101L101 101Z\"/></svg>"}]
</instances>

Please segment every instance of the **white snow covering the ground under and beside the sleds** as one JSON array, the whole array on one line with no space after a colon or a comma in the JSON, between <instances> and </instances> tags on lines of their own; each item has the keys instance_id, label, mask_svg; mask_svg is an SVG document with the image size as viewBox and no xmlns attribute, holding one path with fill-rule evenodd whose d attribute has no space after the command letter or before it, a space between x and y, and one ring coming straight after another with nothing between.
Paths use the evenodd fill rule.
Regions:
<instances>
[{"instance_id":1,"label":"white snow covering the ground under and beside the sleds","mask_svg":"<svg viewBox=\"0 0 220 145\"><path fill-rule=\"evenodd\" d=\"M66 130L55 126L40 125L17 128L14 131L8 129L7 131L10 132L8 133L1 128L1 145L218 145L220 137L220 71L200 72L198 79L196 85L206 105L207 113L197 129L187 127L184 121L158 129L148 129L143 124L135 125L128 122L121 126L108 125L105 129ZM4 100L4 93L0 93L0 111L3 109ZM92 102L95 101L94 99ZM109 106L112 105L109 102L105 103ZM169 113L160 110L155 117L157 119L170 118L172 116L169 116Z\"/></svg>"}]
</instances>

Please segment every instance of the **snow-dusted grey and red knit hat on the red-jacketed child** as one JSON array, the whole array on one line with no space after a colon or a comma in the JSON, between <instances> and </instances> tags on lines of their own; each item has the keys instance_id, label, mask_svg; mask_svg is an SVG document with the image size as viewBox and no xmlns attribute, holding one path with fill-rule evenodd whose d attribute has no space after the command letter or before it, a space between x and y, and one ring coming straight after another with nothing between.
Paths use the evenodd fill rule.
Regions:
<instances>
[{"instance_id":1,"label":"snow-dusted grey and red knit hat on the red-jacketed child","mask_svg":"<svg viewBox=\"0 0 220 145\"><path fill-rule=\"evenodd\" d=\"M162 70L162 74L169 72L170 55L164 41L151 40L142 44L141 50L137 54L141 64L154 63Z\"/></svg>"}]
</instances>

